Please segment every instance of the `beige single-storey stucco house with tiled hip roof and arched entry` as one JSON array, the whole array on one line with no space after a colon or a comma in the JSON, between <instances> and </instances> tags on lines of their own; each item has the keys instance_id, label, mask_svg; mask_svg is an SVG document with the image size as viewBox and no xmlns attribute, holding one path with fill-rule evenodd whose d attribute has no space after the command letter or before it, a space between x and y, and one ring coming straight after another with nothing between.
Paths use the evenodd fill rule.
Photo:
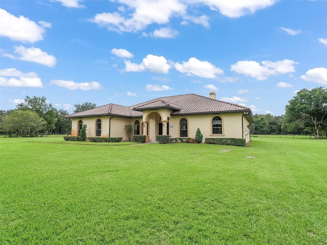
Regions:
<instances>
[{"instance_id":1,"label":"beige single-storey stucco house with tiled hip roof and arched entry","mask_svg":"<svg viewBox=\"0 0 327 245\"><path fill-rule=\"evenodd\" d=\"M253 123L250 108L194 93L160 97L134 106L108 104L68 115L72 119L72 136L87 125L87 137L123 137L125 125L133 125L133 135L146 135L146 142L157 135L194 138L197 129L203 138L245 138L250 140Z\"/></svg>"}]
</instances>

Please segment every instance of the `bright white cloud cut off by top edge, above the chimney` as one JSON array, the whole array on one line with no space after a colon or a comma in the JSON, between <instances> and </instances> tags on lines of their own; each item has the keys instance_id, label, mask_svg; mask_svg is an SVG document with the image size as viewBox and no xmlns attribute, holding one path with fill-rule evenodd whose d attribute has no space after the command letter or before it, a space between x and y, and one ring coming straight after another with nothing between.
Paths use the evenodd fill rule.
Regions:
<instances>
[{"instance_id":1,"label":"bright white cloud cut off by top edge, above the chimney","mask_svg":"<svg viewBox=\"0 0 327 245\"><path fill-rule=\"evenodd\" d=\"M226 0L200 0L197 1L209 6L212 10L219 9L222 15L237 18L246 14L272 6L277 0L251 0L251 1L226 1Z\"/></svg>"}]
</instances>

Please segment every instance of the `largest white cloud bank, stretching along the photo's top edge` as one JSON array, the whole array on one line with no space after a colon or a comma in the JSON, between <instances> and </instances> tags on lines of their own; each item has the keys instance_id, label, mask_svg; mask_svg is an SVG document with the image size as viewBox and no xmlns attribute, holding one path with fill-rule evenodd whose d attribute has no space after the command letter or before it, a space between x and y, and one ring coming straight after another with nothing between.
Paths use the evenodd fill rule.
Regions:
<instances>
[{"instance_id":1,"label":"largest white cloud bank, stretching along the photo's top edge","mask_svg":"<svg viewBox=\"0 0 327 245\"><path fill-rule=\"evenodd\" d=\"M226 0L196 0L196 1L152 1L152 0L116 0L121 4L117 12L98 13L89 21L97 23L109 31L138 32L146 29L151 24L167 24L172 18L182 18L181 24L192 21L209 27L206 15L192 16L188 13L199 5L211 10L219 10L221 14L236 18L272 6L277 0L251 0L251 1L226 1ZM144 35L144 34L143 34Z\"/></svg>"}]
</instances>

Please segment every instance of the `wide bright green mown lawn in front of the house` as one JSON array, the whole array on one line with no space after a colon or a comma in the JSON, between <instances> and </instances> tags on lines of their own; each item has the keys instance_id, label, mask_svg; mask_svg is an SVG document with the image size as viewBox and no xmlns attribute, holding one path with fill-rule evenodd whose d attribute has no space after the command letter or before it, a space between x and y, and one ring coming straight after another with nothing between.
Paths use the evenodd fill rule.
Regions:
<instances>
[{"instance_id":1,"label":"wide bright green mown lawn in front of the house","mask_svg":"<svg viewBox=\"0 0 327 245\"><path fill-rule=\"evenodd\" d=\"M0 138L0 244L327 244L327 140L252 140Z\"/></svg>"}]
</instances>

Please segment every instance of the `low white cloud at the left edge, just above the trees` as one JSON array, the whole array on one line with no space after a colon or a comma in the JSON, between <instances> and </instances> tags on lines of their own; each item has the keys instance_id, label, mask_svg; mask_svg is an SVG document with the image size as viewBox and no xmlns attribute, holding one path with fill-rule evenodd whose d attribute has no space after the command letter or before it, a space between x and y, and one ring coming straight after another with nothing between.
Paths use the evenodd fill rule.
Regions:
<instances>
[{"instance_id":1,"label":"low white cloud at the left edge, just above the trees","mask_svg":"<svg viewBox=\"0 0 327 245\"><path fill-rule=\"evenodd\" d=\"M38 78L35 72L29 72L25 74L16 68L6 68L0 70L0 76L0 86L36 88L43 87L41 79Z\"/></svg>"}]
</instances>

